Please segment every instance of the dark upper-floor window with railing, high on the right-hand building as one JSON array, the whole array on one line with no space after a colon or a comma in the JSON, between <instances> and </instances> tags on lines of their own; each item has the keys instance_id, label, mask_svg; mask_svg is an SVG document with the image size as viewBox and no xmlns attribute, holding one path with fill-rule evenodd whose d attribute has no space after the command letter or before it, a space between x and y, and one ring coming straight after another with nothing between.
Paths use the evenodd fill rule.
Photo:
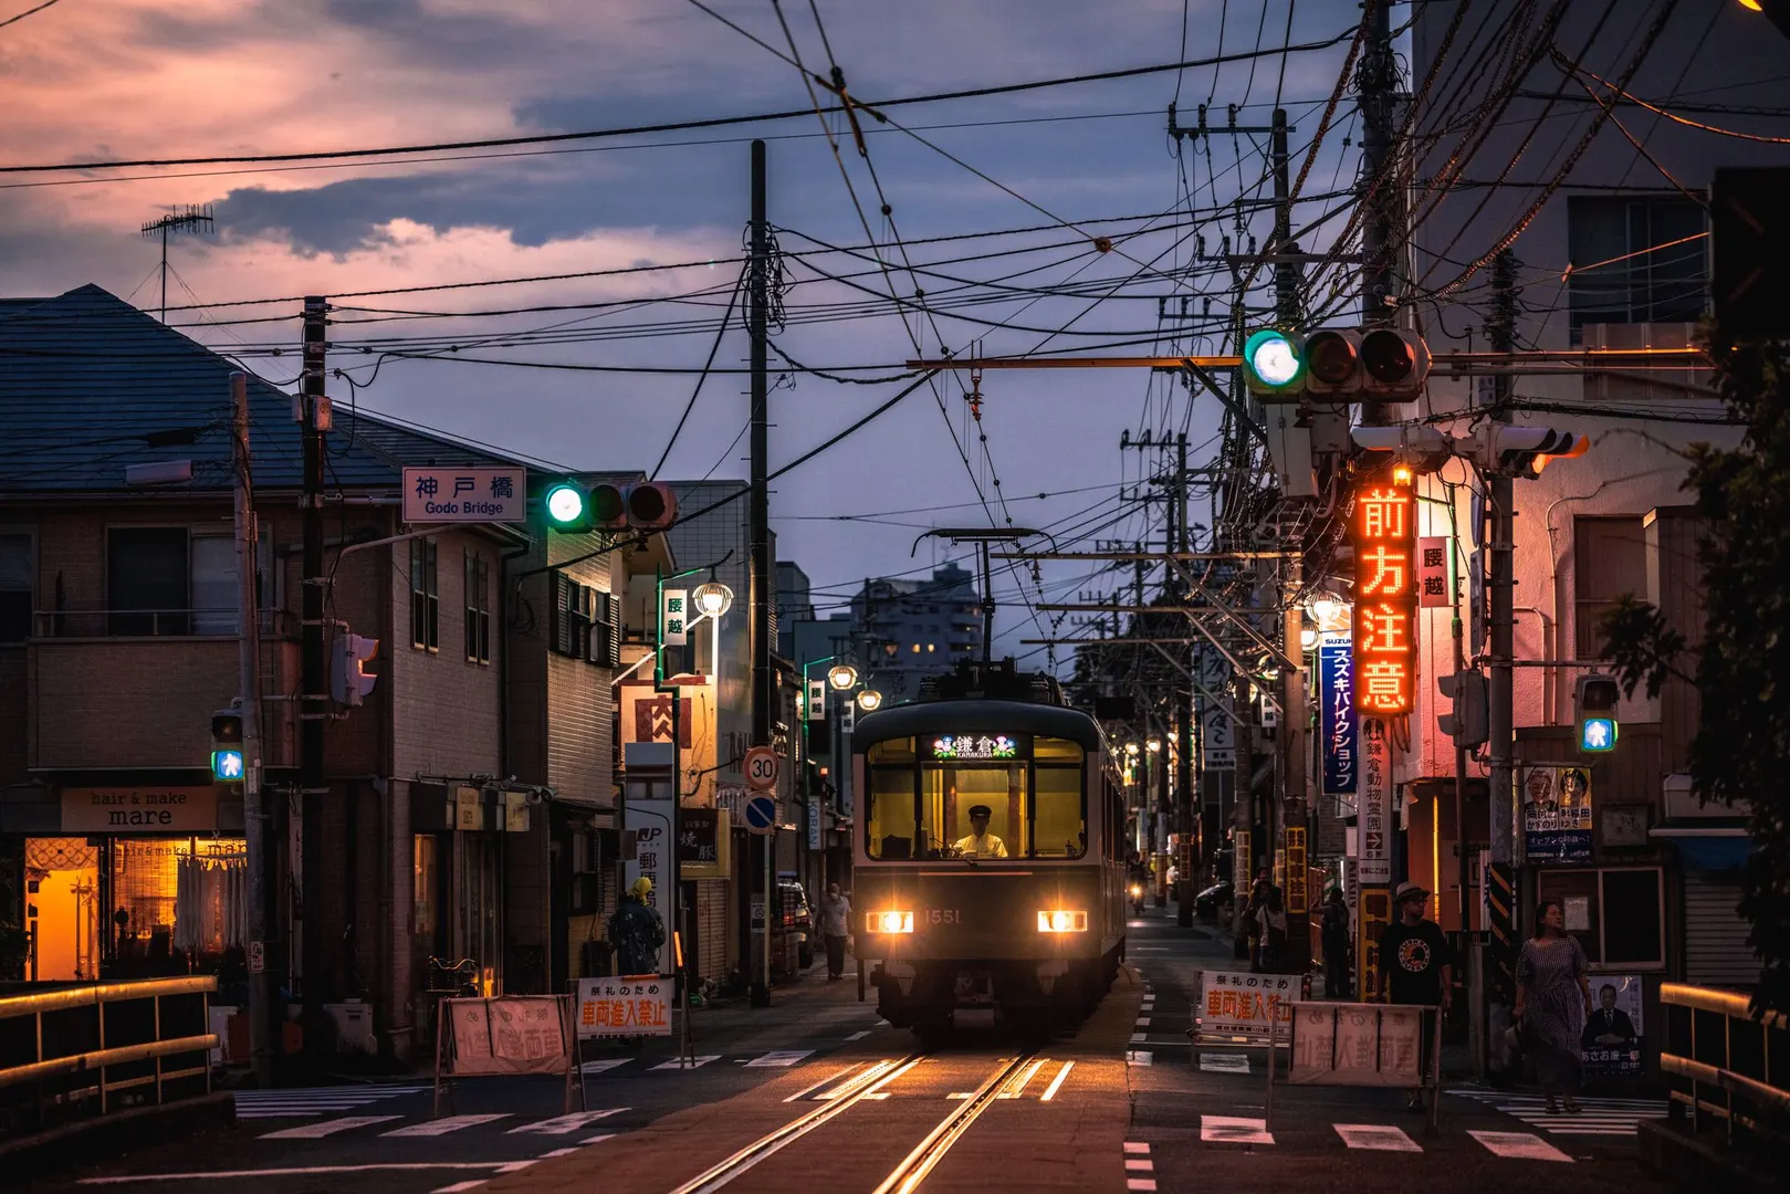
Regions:
<instances>
[{"instance_id":1,"label":"dark upper-floor window with railing, high on the right-hand building","mask_svg":"<svg viewBox=\"0 0 1790 1194\"><path fill-rule=\"evenodd\" d=\"M1702 319L1709 290L1702 233L1704 211L1688 199L1573 195L1566 204L1572 342L1581 342L1584 324Z\"/></svg>"}]
</instances>

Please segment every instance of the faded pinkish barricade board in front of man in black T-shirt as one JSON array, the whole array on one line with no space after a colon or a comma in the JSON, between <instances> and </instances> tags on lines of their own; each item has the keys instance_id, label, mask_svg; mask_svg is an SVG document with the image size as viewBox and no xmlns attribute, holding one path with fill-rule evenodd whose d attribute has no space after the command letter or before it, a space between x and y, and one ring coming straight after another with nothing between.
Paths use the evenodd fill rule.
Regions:
<instances>
[{"instance_id":1,"label":"faded pinkish barricade board in front of man in black T-shirt","mask_svg":"<svg viewBox=\"0 0 1790 1194\"><path fill-rule=\"evenodd\" d=\"M1283 1033L1289 1087L1428 1090L1428 1131L1441 1108L1443 1024L1436 1008L1385 1002L1296 1002ZM1423 1042L1428 1040L1428 1058ZM1274 1054L1267 1051L1267 1119L1274 1119ZM1428 1065L1425 1067L1425 1062Z\"/></svg>"}]
</instances>

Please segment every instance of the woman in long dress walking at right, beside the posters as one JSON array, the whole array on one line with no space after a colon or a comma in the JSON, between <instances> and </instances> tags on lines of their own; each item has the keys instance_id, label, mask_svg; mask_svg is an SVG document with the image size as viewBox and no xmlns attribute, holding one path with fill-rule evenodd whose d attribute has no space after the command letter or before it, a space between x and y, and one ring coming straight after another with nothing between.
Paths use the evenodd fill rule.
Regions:
<instances>
[{"instance_id":1,"label":"woman in long dress walking at right, beside the posters","mask_svg":"<svg viewBox=\"0 0 1790 1194\"><path fill-rule=\"evenodd\" d=\"M1579 1110L1572 1096L1579 1088L1579 1033L1591 1019L1590 967L1579 938L1566 933L1561 902L1541 900L1536 934L1516 958L1514 1011L1550 1115L1559 1115L1563 1101L1568 1112Z\"/></svg>"}]
</instances>

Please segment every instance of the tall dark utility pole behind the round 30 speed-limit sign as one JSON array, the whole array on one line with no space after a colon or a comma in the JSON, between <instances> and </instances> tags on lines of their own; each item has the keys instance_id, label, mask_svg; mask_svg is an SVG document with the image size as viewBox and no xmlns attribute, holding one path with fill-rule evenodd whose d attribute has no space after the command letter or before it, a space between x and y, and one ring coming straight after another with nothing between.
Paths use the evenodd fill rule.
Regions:
<instances>
[{"instance_id":1,"label":"tall dark utility pole behind the round 30 speed-limit sign","mask_svg":"<svg viewBox=\"0 0 1790 1194\"><path fill-rule=\"evenodd\" d=\"M771 514L770 514L770 222L764 211L764 141L752 143L752 745L771 743ZM777 857L777 831L755 847L764 866L764 956L752 977L752 1006L771 1002L771 868ZM741 886L746 886L745 883ZM746 922L750 927L750 920ZM743 958L750 958L750 945Z\"/></svg>"}]
</instances>

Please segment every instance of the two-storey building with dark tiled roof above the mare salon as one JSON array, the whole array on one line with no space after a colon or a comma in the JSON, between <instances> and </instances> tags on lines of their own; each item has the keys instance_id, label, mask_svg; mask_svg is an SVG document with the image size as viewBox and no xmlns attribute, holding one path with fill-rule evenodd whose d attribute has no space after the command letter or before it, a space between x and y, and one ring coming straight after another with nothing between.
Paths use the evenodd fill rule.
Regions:
<instances>
[{"instance_id":1,"label":"two-storey building with dark tiled roof above the mare salon","mask_svg":"<svg viewBox=\"0 0 1790 1194\"><path fill-rule=\"evenodd\" d=\"M245 976L243 809L209 752L213 714L240 696L234 365L97 286L0 306L0 358L16 460L0 478L0 859L23 893L27 977L218 972L229 1002ZM526 499L553 474L524 460L338 412L326 634L374 639L376 684L331 704L326 791L306 802L301 428L288 394L258 378L247 392L268 967L303 997L308 1035L362 1001L360 1045L403 1058L433 1040L430 992L448 981L433 958L471 958L487 992L558 992L585 972L619 857L619 594L669 555L662 537L619 553L605 533L548 532ZM406 465L485 471L528 514L412 526Z\"/></svg>"}]
</instances>

